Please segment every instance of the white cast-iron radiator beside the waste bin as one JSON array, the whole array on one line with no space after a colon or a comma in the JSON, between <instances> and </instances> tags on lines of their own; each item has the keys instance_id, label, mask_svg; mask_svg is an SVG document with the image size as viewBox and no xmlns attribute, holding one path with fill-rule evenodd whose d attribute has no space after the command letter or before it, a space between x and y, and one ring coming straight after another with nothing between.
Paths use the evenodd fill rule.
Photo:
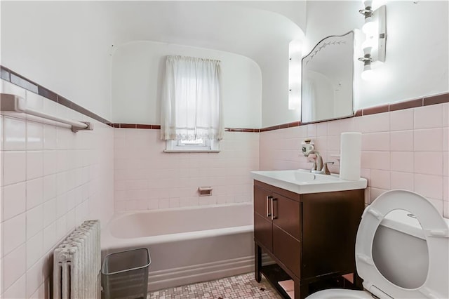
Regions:
<instances>
[{"instance_id":1,"label":"white cast-iron radiator beside the waste bin","mask_svg":"<svg viewBox=\"0 0 449 299\"><path fill-rule=\"evenodd\" d=\"M100 298L100 220L76 227L53 251L53 298Z\"/></svg>"}]
</instances>

